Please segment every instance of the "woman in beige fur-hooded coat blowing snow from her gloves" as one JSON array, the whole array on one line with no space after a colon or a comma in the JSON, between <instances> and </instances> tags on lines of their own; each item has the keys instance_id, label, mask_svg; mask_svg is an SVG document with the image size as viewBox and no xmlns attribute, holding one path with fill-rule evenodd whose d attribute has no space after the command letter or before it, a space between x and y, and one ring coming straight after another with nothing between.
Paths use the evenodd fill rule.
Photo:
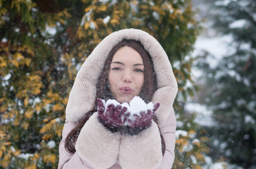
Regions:
<instances>
[{"instance_id":1,"label":"woman in beige fur-hooded coat blowing snow from her gloves","mask_svg":"<svg viewBox=\"0 0 256 169\"><path fill-rule=\"evenodd\" d=\"M108 35L76 76L66 108L58 168L171 168L176 94L172 67L155 38L136 29ZM134 96L155 103L153 109L136 116L139 120L135 121L143 123L125 118L129 111L122 103ZM106 108L101 99L116 99L120 104Z\"/></svg>"}]
</instances>

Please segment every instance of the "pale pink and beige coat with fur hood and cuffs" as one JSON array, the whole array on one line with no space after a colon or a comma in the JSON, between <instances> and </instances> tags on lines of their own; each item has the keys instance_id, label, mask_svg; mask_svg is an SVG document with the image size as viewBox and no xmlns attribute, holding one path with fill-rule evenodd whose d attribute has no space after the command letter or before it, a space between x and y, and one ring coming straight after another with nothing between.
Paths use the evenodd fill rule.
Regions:
<instances>
[{"instance_id":1,"label":"pale pink and beige coat with fur hood and cuffs","mask_svg":"<svg viewBox=\"0 0 256 169\"><path fill-rule=\"evenodd\" d=\"M156 111L160 132L165 140L164 156L161 152L159 128L155 122L138 135L113 133L99 122L94 113L84 124L74 154L65 150L65 139L79 118L92 109L96 97L96 84L110 50L122 39L140 41L152 57L157 78L157 90L152 103L160 103ZM66 108L66 123L59 144L58 168L171 168L174 161L176 118L173 101L177 82L163 47L150 34L138 29L123 29L108 35L93 50L80 68L70 92Z\"/></svg>"}]
</instances>

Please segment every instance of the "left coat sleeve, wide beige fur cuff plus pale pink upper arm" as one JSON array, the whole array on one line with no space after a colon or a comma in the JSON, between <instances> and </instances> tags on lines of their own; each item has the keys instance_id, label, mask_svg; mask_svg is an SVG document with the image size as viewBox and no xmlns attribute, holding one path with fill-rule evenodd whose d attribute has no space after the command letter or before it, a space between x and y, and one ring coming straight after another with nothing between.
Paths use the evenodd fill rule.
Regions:
<instances>
[{"instance_id":1,"label":"left coat sleeve, wide beige fur cuff plus pale pink upper arm","mask_svg":"<svg viewBox=\"0 0 256 169\"><path fill-rule=\"evenodd\" d=\"M76 152L65 150L65 139L76 123L66 122L59 144L58 168L109 168L118 158L120 133L113 133L97 119L94 113L84 124L75 144ZM100 162L100 163L99 163Z\"/></svg>"}]
</instances>

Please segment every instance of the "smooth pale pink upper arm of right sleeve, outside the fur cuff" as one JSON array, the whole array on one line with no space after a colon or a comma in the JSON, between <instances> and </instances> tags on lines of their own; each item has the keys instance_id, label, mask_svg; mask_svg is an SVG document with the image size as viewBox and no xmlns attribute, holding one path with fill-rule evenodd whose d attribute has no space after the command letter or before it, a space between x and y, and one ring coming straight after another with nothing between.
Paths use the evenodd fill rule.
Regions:
<instances>
[{"instance_id":1,"label":"smooth pale pink upper arm of right sleeve, outside the fur cuff","mask_svg":"<svg viewBox=\"0 0 256 169\"><path fill-rule=\"evenodd\" d=\"M176 144L176 117L173 109L167 121L160 126L160 131L165 140L165 153L159 169L170 169L174 161L174 148Z\"/></svg>"}]
</instances>

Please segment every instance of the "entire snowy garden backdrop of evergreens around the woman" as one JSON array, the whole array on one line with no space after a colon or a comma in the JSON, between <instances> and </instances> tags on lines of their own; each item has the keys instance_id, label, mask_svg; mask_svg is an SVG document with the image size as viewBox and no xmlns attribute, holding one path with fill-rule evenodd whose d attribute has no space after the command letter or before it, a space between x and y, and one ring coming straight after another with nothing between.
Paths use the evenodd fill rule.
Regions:
<instances>
[{"instance_id":1,"label":"entire snowy garden backdrop of evergreens around the woman","mask_svg":"<svg viewBox=\"0 0 256 169\"><path fill-rule=\"evenodd\" d=\"M0 0L0 168L57 168L75 75L124 28L153 35L173 65L173 168L255 168L254 0Z\"/></svg>"}]
</instances>

